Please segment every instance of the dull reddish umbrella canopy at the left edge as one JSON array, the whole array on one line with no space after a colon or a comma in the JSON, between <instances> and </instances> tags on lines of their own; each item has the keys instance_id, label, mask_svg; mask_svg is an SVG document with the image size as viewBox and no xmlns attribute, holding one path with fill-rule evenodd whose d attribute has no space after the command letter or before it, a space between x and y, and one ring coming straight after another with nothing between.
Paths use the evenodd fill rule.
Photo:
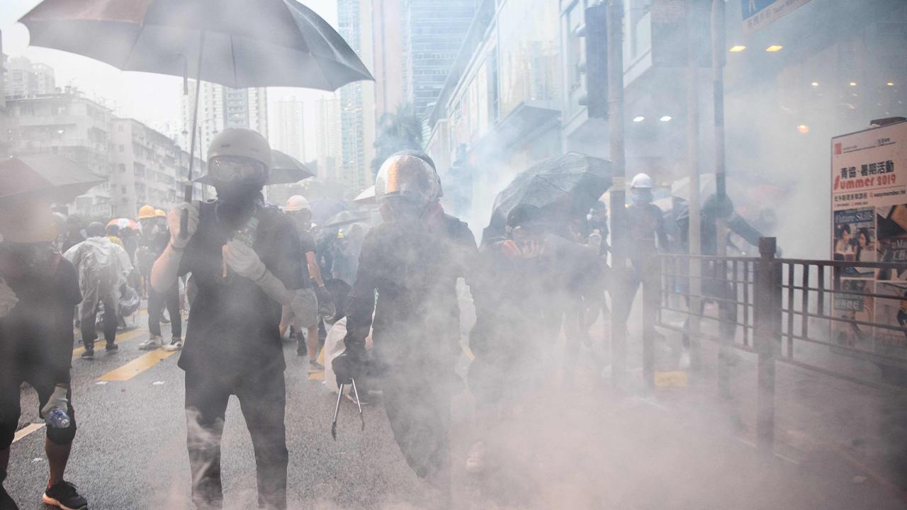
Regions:
<instances>
[{"instance_id":1,"label":"dull reddish umbrella canopy at the left edge","mask_svg":"<svg viewBox=\"0 0 907 510\"><path fill-rule=\"evenodd\" d=\"M0 161L0 201L37 196L66 203L104 181L107 180L59 156Z\"/></svg>"}]
</instances>

